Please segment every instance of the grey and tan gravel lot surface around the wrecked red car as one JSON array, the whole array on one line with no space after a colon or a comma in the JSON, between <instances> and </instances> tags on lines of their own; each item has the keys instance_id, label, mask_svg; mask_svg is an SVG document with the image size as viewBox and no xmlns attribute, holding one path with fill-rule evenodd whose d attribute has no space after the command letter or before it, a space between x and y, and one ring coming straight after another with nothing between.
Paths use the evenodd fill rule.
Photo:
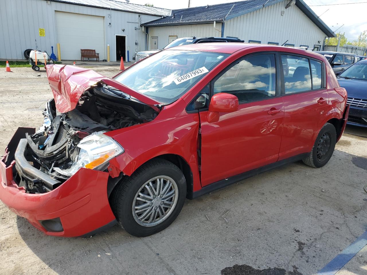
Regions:
<instances>
[{"instance_id":1,"label":"grey and tan gravel lot surface around the wrecked red car","mask_svg":"<svg viewBox=\"0 0 367 275\"><path fill-rule=\"evenodd\" d=\"M39 106L52 96L44 69L12 70L0 71L0 152L19 126L42 124ZM367 129L347 132L323 168L297 162L186 200L147 238L118 226L92 238L46 236L0 202L0 274L316 274L367 228ZM366 247L338 272L351 274L367 274Z\"/></svg>"}]
</instances>

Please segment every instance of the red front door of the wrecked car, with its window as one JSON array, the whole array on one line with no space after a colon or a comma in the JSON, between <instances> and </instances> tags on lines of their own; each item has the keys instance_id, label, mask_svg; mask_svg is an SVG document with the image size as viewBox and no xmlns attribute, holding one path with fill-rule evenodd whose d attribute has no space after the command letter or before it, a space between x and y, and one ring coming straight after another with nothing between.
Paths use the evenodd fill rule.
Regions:
<instances>
[{"instance_id":1,"label":"red front door of the wrecked car, with its window","mask_svg":"<svg viewBox=\"0 0 367 275\"><path fill-rule=\"evenodd\" d=\"M277 161L284 106L275 60L274 53L245 56L211 82L212 94L236 95L240 104L216 122L200 112L201 186Z\"/></svg>"}]
</instances>

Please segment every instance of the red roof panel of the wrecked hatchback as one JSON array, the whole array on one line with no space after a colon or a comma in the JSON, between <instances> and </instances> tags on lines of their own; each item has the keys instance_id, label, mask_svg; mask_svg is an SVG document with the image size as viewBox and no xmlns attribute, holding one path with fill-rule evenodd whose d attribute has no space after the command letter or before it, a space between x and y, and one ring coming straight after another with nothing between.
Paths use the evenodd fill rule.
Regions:
<instances>
[{"instance_id":1,"label":"red roof panel of the wrecked hatchback","mask_svg":"<svg viewBox=\"0 0 367 275\"><path fill-rule=\"evenodd\" d=\"M259 51L278 51L278 52L290 52L294 54L306 55L316 59L324 60L325 57L318 54L317 52L307 51L304 49L297 49L291 47L283 47L276 45L267 44L251 44L251 43L199 43L199 44L188 44L177 47L172 47L167 50L183 50L183 51L203 51L203 52L219 52L221 54L233 54L237 51L246 48L257 48ZM325 59L326 60L326 59Z\"/></svg>"}]
</instances>

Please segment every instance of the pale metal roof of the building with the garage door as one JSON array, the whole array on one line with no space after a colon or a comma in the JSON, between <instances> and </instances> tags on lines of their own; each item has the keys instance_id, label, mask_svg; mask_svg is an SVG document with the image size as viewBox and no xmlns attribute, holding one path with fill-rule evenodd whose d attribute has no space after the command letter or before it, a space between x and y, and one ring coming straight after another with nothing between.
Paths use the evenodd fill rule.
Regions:
<instances>
[{"instance_id":1,"label":"pale metal roof of the building with the garage door","mask_svg":"<svg viewBox=\"0 0 367 275\"><path fill-rule=\"evenodd\" d=\"M134 12L139 14L150 14L159 16L167 16L171 14L171 10L168 10L166 8L149 7L114 0L51 0L51 1L75 4L79 6L104 8L108 10L111 9L117 11Z\"/></svg>"}]
</instances>

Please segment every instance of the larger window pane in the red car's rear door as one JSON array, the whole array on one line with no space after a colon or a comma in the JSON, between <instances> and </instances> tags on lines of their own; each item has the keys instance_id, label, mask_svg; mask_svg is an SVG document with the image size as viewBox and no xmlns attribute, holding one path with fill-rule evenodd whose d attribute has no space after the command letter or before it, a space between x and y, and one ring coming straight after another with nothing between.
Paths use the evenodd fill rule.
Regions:
<instances>
[{"instance_id":1,"label":"larger window pane in the red car's rear door","mask_svg":"<svg viewBox=\"0 0 367 275\"><path fill-rule=\"evenodd\" d=\"M312 89L308 58L294 55L281 55L286 94L309 91Z\"/></svg>"}]
</instances>

